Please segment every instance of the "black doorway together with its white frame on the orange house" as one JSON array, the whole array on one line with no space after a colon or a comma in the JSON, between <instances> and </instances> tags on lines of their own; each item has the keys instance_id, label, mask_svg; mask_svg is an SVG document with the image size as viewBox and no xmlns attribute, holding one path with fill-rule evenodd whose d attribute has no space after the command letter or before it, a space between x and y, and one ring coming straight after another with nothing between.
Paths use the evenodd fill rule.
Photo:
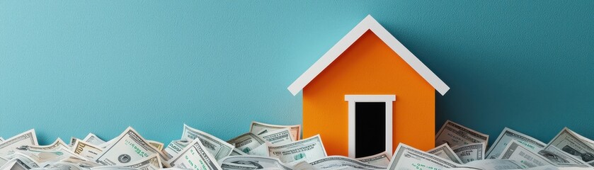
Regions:
<instances>
[{"instance_id":1,"label":"black doorway together with its white frame on the orange house","mask_svg":"<svg viewBox=\"0 0 594 170\"><path fill-rule=\"evenodd\" d=\"M345 95L348 101L348 156L392 156L392 102L394 95Z\"/></svg>"}]
</instances>

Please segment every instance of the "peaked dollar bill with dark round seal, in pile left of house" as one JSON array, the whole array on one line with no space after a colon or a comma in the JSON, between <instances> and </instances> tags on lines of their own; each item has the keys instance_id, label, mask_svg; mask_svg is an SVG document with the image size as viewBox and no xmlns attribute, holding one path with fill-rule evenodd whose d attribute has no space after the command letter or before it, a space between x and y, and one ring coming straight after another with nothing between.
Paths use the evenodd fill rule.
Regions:
<instances>
[{"instance_id":1,"label":"peaked dollar bill with dark round seal, in pile left of house","mask_svg":"<svg viewBox=\"0 0 594 170\"><path fill-rule=\"evenodd\" d=\"M96 162L103 165L129 165L152 154L159 154L162 160L169 160L160 150L149 145L149 142L132 127L126 128L115 139L117 140L113 141L112 145L98 155Z\"/></svg>"}]
</instances>

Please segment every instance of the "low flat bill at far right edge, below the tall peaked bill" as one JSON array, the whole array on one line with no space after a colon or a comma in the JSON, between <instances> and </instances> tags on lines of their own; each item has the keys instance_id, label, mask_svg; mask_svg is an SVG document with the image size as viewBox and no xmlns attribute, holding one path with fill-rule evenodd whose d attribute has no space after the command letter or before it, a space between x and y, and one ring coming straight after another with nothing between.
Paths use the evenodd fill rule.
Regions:
<instances>
[{"instance_id":1,"label":"low flat bill at far right edge, below the tall peaked bill","mask_svg":"<svg viewBox=\"0 0 594 170\"><path fill-rule=\"evenodd\" d=\"M558 166L592 167L590 166L590 164L587 164L586 162L583 162L581 159L578 159L576 157L572 157L567 152L564 152L563 150L553 145L547 145L547 147L544 147L544 149L540 150L538 154L540 154L540 156L544 158L549 159L551 162L557 164Z\"/></svg>"}]
</instances>

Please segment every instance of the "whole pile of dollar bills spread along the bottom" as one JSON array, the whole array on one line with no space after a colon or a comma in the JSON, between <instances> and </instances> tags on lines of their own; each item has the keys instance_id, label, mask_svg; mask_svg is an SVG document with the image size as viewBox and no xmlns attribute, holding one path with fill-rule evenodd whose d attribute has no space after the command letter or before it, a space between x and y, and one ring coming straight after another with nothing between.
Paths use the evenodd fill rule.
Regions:
<instances>
[{"instance_id":1,"label":"whole pile of dollar bills spread along the bottom","mask_svg":"<svg viewBox=\"0 0 594 170\"><path fill-rule=\"evenodd\" d=\"M320 135L302 139L301 132L301 125L252 122L249 132L225 141L183 125L180 139L164 145L129 127L111 140L89 133L69 144L58 138L39 145L35 130L28 130L0 137L0 170L594 169L594 141L568 128L548 144L505 128L488 146L489 135L448 120L435 135L434 149L401 143L394 154L356 159L329 156Z\"/></svg>"}]
</instances>

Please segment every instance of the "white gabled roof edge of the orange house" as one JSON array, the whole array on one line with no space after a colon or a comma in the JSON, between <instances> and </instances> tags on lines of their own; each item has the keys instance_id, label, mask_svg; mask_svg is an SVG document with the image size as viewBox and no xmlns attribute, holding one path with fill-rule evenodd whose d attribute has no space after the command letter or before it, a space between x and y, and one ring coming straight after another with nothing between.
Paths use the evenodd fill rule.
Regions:
<instances>
[{"instance_id":1,"label":"white gabled roof edge of the orange house","mask_svg":"<svg viewBox=\"0 0 594 170\"><path fill-rule=\"evenodd\" d=\"M402 43L400 43L392 34L386 30L382 25L380 25L375 19L367 15L363 21L361 21L353 30L350 30L341 40L339 40L336 45L330 48L326 54L324 54L316 63L309 67L297 80L295 80L287 89L291 91L293 96L297 95L301 89L303 89L310 81L312 81L318 74L320 74L326 67L328 67L338 56L340 56L350 45L353 45L353 42L358 40L363 33L367 30L371 30L379 39L382 39L384 43L386 43L396 54L398 54L402 60L408 63L413 69L415 69L418 74L421 74L421 77L425 79L435 90L437 90L441 95L445 95L445 93L450 90L450 87L447 86L441 79L436 76L431 70L418 60L418 58L413 55L409 49L406 49Z\"/></svg>"}]
</instances>

